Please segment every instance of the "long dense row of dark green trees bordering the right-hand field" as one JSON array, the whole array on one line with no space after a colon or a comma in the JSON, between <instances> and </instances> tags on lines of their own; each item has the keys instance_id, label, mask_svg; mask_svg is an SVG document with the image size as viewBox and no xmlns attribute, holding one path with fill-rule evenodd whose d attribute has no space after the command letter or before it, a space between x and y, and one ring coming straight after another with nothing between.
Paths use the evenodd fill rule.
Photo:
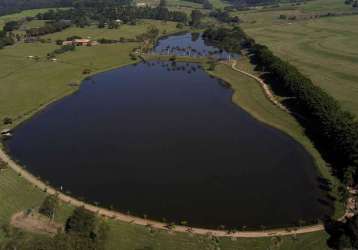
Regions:
<instances>
[{"instance_id":1,"label":"long dense row of dark green trees bordering the right-hand field","mask_svg":"<svg viewBox=\"0 0 358 250\"><path fill-rule=\"evenodd\" d=\"M308 120L305 126L312 140L333 163L336 174L347 184L355 184L358 167L358 122L355 117L266 46L255 44L252 52L258 65L294 97L295 107Z\"/></svg>"}]
</instances>

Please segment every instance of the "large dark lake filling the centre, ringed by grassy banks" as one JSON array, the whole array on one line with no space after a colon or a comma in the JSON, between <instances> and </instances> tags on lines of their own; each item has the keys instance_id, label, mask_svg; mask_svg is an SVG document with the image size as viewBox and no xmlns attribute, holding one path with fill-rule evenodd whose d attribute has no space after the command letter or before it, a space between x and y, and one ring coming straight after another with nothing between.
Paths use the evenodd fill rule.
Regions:
<instances>
[{"instance_id":1,"label":"large dark lake filling the centre, ringed by grassy banks","mask_svg":"<svg viewBox=\"0 0 358 250\"><path fill-rule=\"evenodd\" d=\"M193 226L282 226L330 209L310 155L195 64L98 74L20 125L11 155L120 211Z\"/></svg>"}]
</instances>

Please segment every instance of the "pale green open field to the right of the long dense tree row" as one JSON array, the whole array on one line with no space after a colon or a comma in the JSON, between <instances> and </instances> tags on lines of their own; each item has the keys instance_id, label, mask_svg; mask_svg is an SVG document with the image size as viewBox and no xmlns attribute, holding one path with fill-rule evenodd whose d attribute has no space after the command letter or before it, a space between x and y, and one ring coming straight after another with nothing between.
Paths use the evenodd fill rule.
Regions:
<instances>
[{"instance_id":1,"label":"pale green open field to the right of the long dense tree row","mask_svg":"<svg viewBox=\"0 0 358 250\"><path fill-rule=\"evenodd\" d=\"M357 25L356 15L245 30L358 115Z\"/></svg>"}]
</instances>

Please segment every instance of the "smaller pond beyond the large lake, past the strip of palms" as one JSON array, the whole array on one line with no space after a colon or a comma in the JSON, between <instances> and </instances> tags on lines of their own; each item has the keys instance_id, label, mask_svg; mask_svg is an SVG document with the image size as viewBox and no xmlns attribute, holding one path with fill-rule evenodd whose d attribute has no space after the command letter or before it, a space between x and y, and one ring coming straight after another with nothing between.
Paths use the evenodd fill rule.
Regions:
<instances>
[{"instance_id":1,"label":"smaller pond beyond the large lake, past the strip of palms","mask_svg":"<svg viewBox=\"0 0 358 250\"><path fill-rule=\"evenodd\" d=\"M209 45L201 33L184 33L160 39L154 48L159 54L178 56L212 56L218 59L238 58L235 53L228 53Z\"/></svg>"}]
</instances>

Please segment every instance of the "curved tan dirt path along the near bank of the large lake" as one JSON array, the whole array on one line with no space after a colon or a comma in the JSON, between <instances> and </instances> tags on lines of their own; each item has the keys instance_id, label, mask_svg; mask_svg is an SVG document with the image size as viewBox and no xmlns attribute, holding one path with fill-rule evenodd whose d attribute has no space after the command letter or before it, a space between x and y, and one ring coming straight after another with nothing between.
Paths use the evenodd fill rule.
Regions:
<instances>
[{"instance_id":1,"label":"curved tan dirt path along the near bank of the large lake","mask_svg":"<svg viewBox=\"0 0 358 250\"><path fill-rule=\"evenodd\" d=\"M151 221L147 219L142 219L139 217L133 217L130 215L126 215L120 212L111 211L105 208L101 208L98 206L94 206L91 204L84 203L82 201L77 200L71 196L63 194L51 186L46 185L41 180L37 179L35 176L27 172L21 166L19 166L16 162L11 160L11 158L2 150L0 149L0 159L8 164L14 171L19 173L23 178L27 181L35 185L41 190L46 190L48 194L56 194L58 195L59 200L72 204L75 207L83 206L85 209L102 215L104 217L108 217L114 220L127 222L131 224L143 225L143 226L151 226L155 229L163 229L168 230L167 224L158 222L158 221ZM316 232L324 230L323 225L317 224L312 226L306 227L299 227L295 229L277 229L277 230L266 230L266 231L238 231L234 233L228 233L227 231L223 230L211 230L211 229L203 229L203 228L190 228L186 226L175 226L171 229L173 232L190 232L193 234L198 235L212 235L216 237L244 237L244 238L257 238L257 237L272 237L272 236L284 236L284 235L296 235L302 233L309 233L309 232Z\"/></svg>"}]
</instances>

